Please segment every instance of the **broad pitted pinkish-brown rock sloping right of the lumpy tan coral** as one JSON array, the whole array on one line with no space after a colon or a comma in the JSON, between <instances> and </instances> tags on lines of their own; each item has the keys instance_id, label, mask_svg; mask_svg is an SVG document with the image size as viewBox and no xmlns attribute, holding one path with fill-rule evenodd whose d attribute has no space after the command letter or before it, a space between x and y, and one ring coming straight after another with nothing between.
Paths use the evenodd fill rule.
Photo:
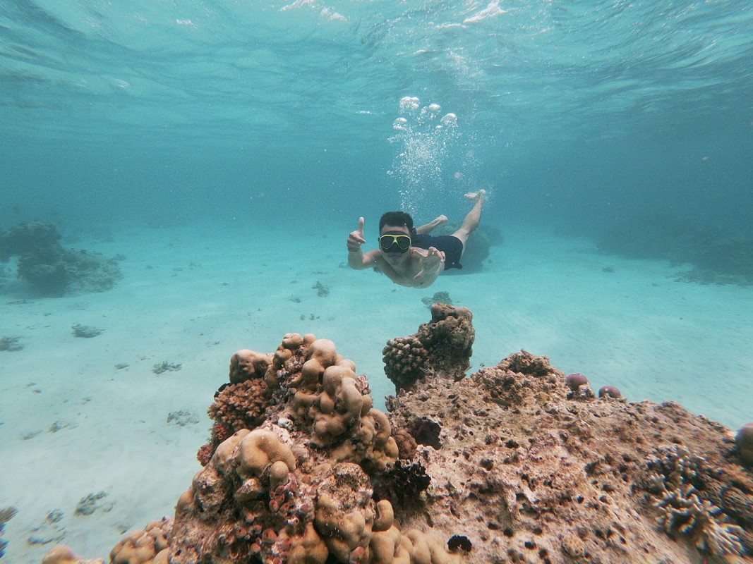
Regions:
<instances>
[{"instance_id":1,"label":"broad pitted pinkish-brown rock sloping right of the lumpy tan coral","mask_svg":"<svg viewBox=\"0 0 753 564\"><path fill-rule=\"evenodd\" d=\"M521 351L389 398L431 477L395 520L467 538L473 562L753 562L751 475L729 430L576 380ZM694 466L675 470L672 452Z\"/></svg>"}]
</instances>

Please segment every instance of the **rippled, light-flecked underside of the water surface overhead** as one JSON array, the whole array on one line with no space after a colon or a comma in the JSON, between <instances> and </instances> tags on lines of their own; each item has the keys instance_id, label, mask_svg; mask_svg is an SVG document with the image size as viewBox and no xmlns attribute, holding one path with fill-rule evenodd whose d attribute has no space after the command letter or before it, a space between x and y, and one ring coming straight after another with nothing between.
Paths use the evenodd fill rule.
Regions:
<instances>
[{"instance_id":1,"label":"rippled, light-flecked underside of the water surface overhead","mask_svg":"<svg viewBox=\"0 0 753 564\"><path fill-rule=\"evenodd\" d=\"M488 135L620 135L747 105L753 82L737 2L47 0L0 24L5 131L93 141L385 139L403 96Z\"/></svg>"}]
</instances>

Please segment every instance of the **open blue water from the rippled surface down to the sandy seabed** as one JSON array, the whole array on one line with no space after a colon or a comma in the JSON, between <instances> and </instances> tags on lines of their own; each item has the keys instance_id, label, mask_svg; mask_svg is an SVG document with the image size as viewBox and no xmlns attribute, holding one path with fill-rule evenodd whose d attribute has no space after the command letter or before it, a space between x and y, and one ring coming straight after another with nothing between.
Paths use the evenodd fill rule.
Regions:
<instances>
[{"instance_id":1,"label":"open blue water from the rippled surface down to the sandy seabed","mask_svg":"<svg viewBox=\"0 0 753 564\"><path fill-rule=\"evenodd\" d=\"M349 225L484 186L501 225L651 209L750 231L751 61L748 2L9 0L0 225L258 216L291 193ZM412 115L395 139L406 96L456 130L427 141Z\"/></svg>"}]
</instances>

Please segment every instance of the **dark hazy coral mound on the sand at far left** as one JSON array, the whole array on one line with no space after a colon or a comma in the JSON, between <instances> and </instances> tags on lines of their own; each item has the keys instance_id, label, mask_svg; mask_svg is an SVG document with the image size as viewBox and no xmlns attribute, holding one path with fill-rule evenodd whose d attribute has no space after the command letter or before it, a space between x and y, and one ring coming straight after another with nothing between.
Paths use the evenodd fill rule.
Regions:
<instances>
[{"instance_id":1,"label":"dark hazy coral mound on the sand at far left","mask_svg":"<svg viewBox=\"0 0 753 564\"><path fill-rule=\"evenodd\" d=\"M104 292L122 277L117 259L100 253L64 249L52 223L26 222L0 230L0 261L17 256L17 274L37 293Z\"/></svg>"}]
</instances>

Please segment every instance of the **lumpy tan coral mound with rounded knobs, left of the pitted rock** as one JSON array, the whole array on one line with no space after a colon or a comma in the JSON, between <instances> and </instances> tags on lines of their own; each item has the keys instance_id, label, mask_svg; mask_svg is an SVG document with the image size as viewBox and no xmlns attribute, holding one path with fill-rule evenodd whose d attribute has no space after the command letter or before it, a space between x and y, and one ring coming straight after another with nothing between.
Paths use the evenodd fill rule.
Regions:
<instances>
[{"instance_id":1,"label":"lumpy tan coral mound with rounded knobs, left of the pitted rock","mask_svg":"<svg viewBox=\"0 0 753 564\"><path fill-rule=\"evenodd\" d=\"M396 464L389 420L334 343L288 334L272 354L241 350L229 379L209 409L206 466L178 500L169 562L459 562L447 539L402 532L375 498L372 477L413 493L428 478Z\"/></svg>"}]
</instances>

